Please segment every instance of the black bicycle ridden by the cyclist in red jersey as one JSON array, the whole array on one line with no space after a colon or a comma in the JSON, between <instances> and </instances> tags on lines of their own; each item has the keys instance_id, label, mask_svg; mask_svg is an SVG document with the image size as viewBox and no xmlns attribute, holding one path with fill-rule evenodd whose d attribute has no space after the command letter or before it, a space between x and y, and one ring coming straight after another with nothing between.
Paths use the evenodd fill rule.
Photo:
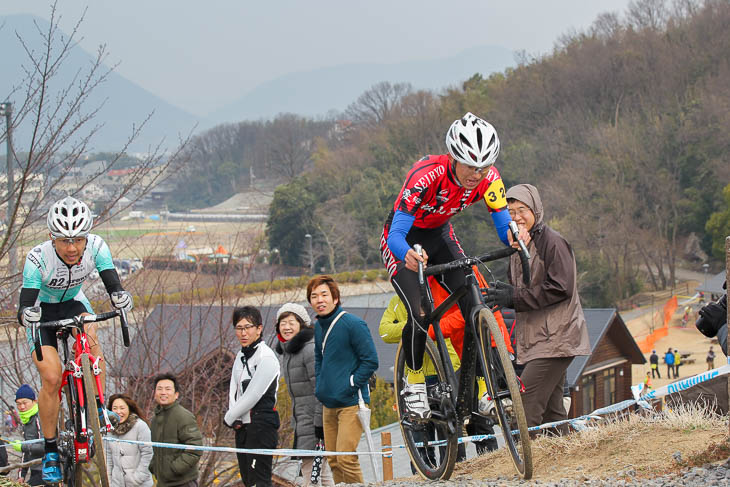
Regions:
<instances>
[{"instance_id":1,"label":"black bicycle ridden by the cyclist in red jersey","mask_svg":"<svg viewBox=\"0 0 730 487\"><path fill-rule=\"evenodd\" d=\"M516 237L516 228L513 235ZM414 246L415 248L415 246ZM418 249L415 249L418 252ZM532 477L532 451L527 430L527 418L522 407L521 383L513 365L512 357L502 337L501 330L494 318L492 310L484 302L484 289L479 287L472 272L475 265L509 257L517 250L505 248L489 252L478 257L465 257L441 265L419 265L419 284L423 309L426 318L423 323L433 325L436 341L427 337L424 363L433 364L433 375L426 377L428 402L431 417L425 420L411 418L404 414L405 403L401 390L406 383L405 354L402 343L398 346L395 358L395 383L400 427L406 449L418 473L429 480L446 480L451 477L456 464L458 439L464 425L471 421L483 421L496 416L502 429L504 442L510 451L512 460L520 476L524 479ZM525 283L530 281L529 254L521 245ZM426 276L438 275L461 269L466 276L466 283L456 289L449 297L434 309L431 291ZM444 335L439 320L445 311L451 308L464 295L471 296L471 311L465 316L464 345L461 357L461 369L457 375L449 359ZM491 414L479 412L478 401L474 393L477 367L486 371L487 393L494 401Z\"/></svg>"}]
</instances>

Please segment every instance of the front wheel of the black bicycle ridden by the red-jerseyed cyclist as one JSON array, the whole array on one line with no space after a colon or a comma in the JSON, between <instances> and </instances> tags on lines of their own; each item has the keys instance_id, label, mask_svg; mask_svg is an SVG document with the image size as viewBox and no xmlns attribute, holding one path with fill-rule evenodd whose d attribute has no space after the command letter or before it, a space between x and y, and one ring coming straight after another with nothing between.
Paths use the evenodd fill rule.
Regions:
<instances>
[{"instance_id":1,"label":"front wheel of the black bicycle ridden by the red-jerseyed cyclist","mask_svg":"<svg viewBox=\"0 0 730 487\"><path fill-rule=\"evenodd\" d=\"M492 347L492 339L496 347ZM520 386L502 331L486 307L479 311L479 344L487 364L487 389L494 400L505 444L520 476L528 480L532 478L532 448ZM514 429L516 433L512 433Z\"/></svg>"}]
</instances>

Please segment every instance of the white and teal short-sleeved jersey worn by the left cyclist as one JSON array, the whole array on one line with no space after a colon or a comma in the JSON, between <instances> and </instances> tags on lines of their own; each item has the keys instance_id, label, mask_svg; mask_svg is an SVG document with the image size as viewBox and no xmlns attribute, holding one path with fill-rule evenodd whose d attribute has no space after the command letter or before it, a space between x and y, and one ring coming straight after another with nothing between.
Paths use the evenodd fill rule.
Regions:
<instances>
[{"instance_id":1,"label":"white and teal short-sleeved jersey worn by the left cyclist","mask_svg":"<svg viewBox=\"0 0 730 487\"><path fill-rule=\"evenodd\" d=\"M99 272L114 269L109 246L100 236L89 234L81 261L72 266L61 260L53 242L48 240L28 252L23 267L23 287L40 290L36 306L75 299L91 311L81 285L94 269Z\"/></svg>"}]
</instances>

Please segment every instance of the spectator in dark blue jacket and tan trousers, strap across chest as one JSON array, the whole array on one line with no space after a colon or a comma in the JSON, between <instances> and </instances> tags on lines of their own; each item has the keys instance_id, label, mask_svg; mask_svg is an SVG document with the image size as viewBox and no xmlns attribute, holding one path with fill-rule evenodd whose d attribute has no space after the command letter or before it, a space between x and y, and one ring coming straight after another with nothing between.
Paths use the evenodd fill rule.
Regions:
<instances>
[{"instance_id":1,"label":"spectator in dark blue jacket and tan trousers, strap across chest","mask_svg":"<svg viewBox=\"0 0 730 487\"><path fill-rule=\"evenodd\" d=\"M323 405L324 445L329 451L355 451L362 435L359 394L370 403L368 381L378 368L378 354L367 323L340 307L340 290L330 276L307 285L315 313L315 396ZM333 456L335 484L363 483L357 455Z\"/></svg>"}]
</instances>

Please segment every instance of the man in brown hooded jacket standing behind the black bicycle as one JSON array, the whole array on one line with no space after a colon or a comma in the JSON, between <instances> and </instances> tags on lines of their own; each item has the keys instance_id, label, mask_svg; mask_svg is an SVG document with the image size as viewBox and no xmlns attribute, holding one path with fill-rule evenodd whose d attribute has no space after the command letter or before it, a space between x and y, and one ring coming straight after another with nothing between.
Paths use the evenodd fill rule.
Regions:
<instances>
[{"instance_id":1,"label":"man in brown hooded jacket standing behind the black bicycle","mask_svg":"<svg viewBox=\"0 0 730 487\"><path fill-rule=\"evenodd\" d=\"M510 216L530 233L530 275L522 283L519 257L510 258L510 284L487 290L489 304L517 312L517 362L528 426L567 419L563 404L566 371L577 355L591 353L578 296L575 255L570 244L543 221L537 188L518 184L507 191Z\"/></svg>"}]
</instances>

